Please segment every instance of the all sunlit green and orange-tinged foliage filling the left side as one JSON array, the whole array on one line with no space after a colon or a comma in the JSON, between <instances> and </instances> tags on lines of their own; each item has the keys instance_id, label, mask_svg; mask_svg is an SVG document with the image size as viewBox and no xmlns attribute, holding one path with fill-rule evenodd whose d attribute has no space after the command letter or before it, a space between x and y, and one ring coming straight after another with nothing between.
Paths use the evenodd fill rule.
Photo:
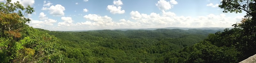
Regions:
<instances>
[{"instance_id":1,"label":"all sunlit green and orange-tinged foliage filling the left side","mask_svg":"<svg viewBox=\"0 0 256 63\"><path fill-rule=\"evenodd\" d=\"M17 12L16 12L17 11ZM57 38L29 27L28 14L34 12L29 5L24 8L19 1L0 2L0 62L34 63L64 62Z\"/></svg>"}]
</instances>

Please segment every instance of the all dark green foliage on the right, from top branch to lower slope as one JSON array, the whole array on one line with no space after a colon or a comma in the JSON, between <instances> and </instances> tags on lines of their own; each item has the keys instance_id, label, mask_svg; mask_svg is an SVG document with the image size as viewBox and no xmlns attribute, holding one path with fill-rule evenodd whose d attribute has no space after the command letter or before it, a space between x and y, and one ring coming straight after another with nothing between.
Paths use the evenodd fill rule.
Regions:
<instances>
[{"instance_id":1,"label":"all dark green foliage on the right, from top branch to lower slope","mask_svg":"<svg viewBox=\"0 0 256 63\"><path fill-rule=\"evenodd\" d=\"M204 41L184 48L189 53L187 62L196 63L237 63L256 54L256 0L222 0L223 12L246 12L240 23L233 29L209 34Z\"/></svg>"}]
</instances>

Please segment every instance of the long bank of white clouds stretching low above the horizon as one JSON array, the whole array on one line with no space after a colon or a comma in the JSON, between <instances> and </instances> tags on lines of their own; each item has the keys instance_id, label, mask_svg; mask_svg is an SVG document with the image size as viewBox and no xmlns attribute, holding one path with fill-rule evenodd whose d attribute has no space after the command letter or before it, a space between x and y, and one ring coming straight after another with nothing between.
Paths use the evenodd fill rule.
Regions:
<instances>
[{"instance_id":1,"label":"long bank of white clouds stretching low above the horizon","mask_svg":"<svg viewBox=\"0 0 256 63\"><path fill-rule=\"evenodd\" d=\"M59 26L65 25L68 30L84 29L120 29L120 28L164 28L164 27L231 27L240 18L227 17L225 14L208 14L204 16L176 16L171 11L162 10L161 13L144 14L139 11L130 12L131 19L119 19L114 21L109 16L100 16L96 14L85 15L85 21L73 24L70 18L62 18L64 22L58 23ZM68 26L68 23L70 26ZM61 26L63 27L63 26ZM64 27L63 27L64 28ZM66 28L66 27L65 27ZM70 28L70 29L69 29ZM60 28L61 29L61 28ZM67 30L65 29L65 30Z\"/></svg>"}]
</instances>

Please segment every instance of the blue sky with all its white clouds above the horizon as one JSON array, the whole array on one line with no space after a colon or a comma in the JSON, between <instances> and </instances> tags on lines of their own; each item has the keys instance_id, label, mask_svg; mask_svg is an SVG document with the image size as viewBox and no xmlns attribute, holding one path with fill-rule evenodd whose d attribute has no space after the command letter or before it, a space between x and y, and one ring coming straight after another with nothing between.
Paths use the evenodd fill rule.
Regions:
<instances>
[{"instance_id":1,"label":"blue sky with all its white clouds above the horizon","mask_svg":"<svg viewBox=\"0 0 256 63\"><path fill-rule=\"evenodd\" d=\"M17 1L35 10L26 16L29 26L50 31L226 28L246 15L223 13L221 0L12 0Z\"/></svg>"}]
</instances>

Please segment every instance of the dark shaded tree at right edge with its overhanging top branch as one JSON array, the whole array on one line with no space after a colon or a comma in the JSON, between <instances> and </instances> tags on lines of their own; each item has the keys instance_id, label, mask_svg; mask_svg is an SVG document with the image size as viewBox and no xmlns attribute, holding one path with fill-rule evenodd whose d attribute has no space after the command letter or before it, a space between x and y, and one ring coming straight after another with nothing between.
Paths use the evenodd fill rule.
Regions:
<instances>
[{"instance_id":1,"label":"dark shaded tree at right edge with its overhanging top branch","mask_svg":"<svg viewBox=\"0 0 256 63\"><path fill-rule=\"evenodd\" d=\"M219 37L228 36L230 45L236 46L237 50L244 54L243 59L255 54L256 45L256 0L222 0L220 8L223 12L246 12L240 23L234 24L234 29L218 33ZM222 37L225 38L225 37ZM221 39L222 40L222 39ZM224 42L227 43L227 42ZM227 45L223 45L227 46Z\"/></svg>"}]
</instances>

